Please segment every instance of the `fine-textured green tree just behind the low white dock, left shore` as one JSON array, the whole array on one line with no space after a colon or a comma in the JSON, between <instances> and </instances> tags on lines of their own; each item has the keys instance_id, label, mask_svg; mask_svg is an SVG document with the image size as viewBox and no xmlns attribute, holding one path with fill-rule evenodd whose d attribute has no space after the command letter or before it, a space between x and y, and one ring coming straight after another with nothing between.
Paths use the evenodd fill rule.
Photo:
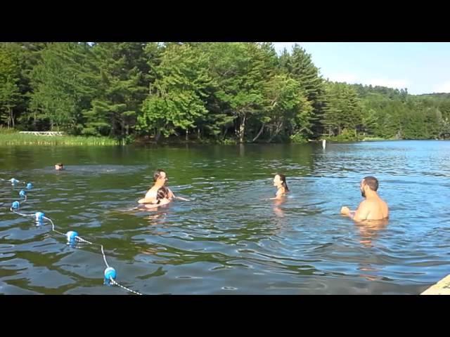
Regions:
<instances>
[{"instance_id":1,"label":"fine-textured green tree just behind the low white dock, left shore","mask_svg":"<svg viewBox=\"0 0 450 337\"><path fill-rule=\"evenodd\" d=\"M89 109L96 81L89 72L89 49L73 42L49 44L30 73L30 111L51 130L79 133L82 112Z\"/></svg>"}]
</instances>

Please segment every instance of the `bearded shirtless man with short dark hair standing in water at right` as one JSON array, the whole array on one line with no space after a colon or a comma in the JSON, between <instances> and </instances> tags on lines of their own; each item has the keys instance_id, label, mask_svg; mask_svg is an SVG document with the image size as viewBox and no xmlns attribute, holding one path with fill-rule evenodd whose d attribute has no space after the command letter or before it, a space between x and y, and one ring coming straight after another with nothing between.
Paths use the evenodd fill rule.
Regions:
<instances>
[{"instance_id":1,"label":"bearded shirtless man with short dark hair standing in water at right","mask_svg":"<svg viewBox=\"0 0 450 337\"><path fill-rule=\"evenodd\" d=\"M383 220L389 218L389 208L383 199L378 197L378 180L375 177L366 177L359 185L361 195L365 198L361 201L356 211L350 211L347 206L340 209L340 213L349 216L355 221Z\"/></svg>"}]
</instances>

